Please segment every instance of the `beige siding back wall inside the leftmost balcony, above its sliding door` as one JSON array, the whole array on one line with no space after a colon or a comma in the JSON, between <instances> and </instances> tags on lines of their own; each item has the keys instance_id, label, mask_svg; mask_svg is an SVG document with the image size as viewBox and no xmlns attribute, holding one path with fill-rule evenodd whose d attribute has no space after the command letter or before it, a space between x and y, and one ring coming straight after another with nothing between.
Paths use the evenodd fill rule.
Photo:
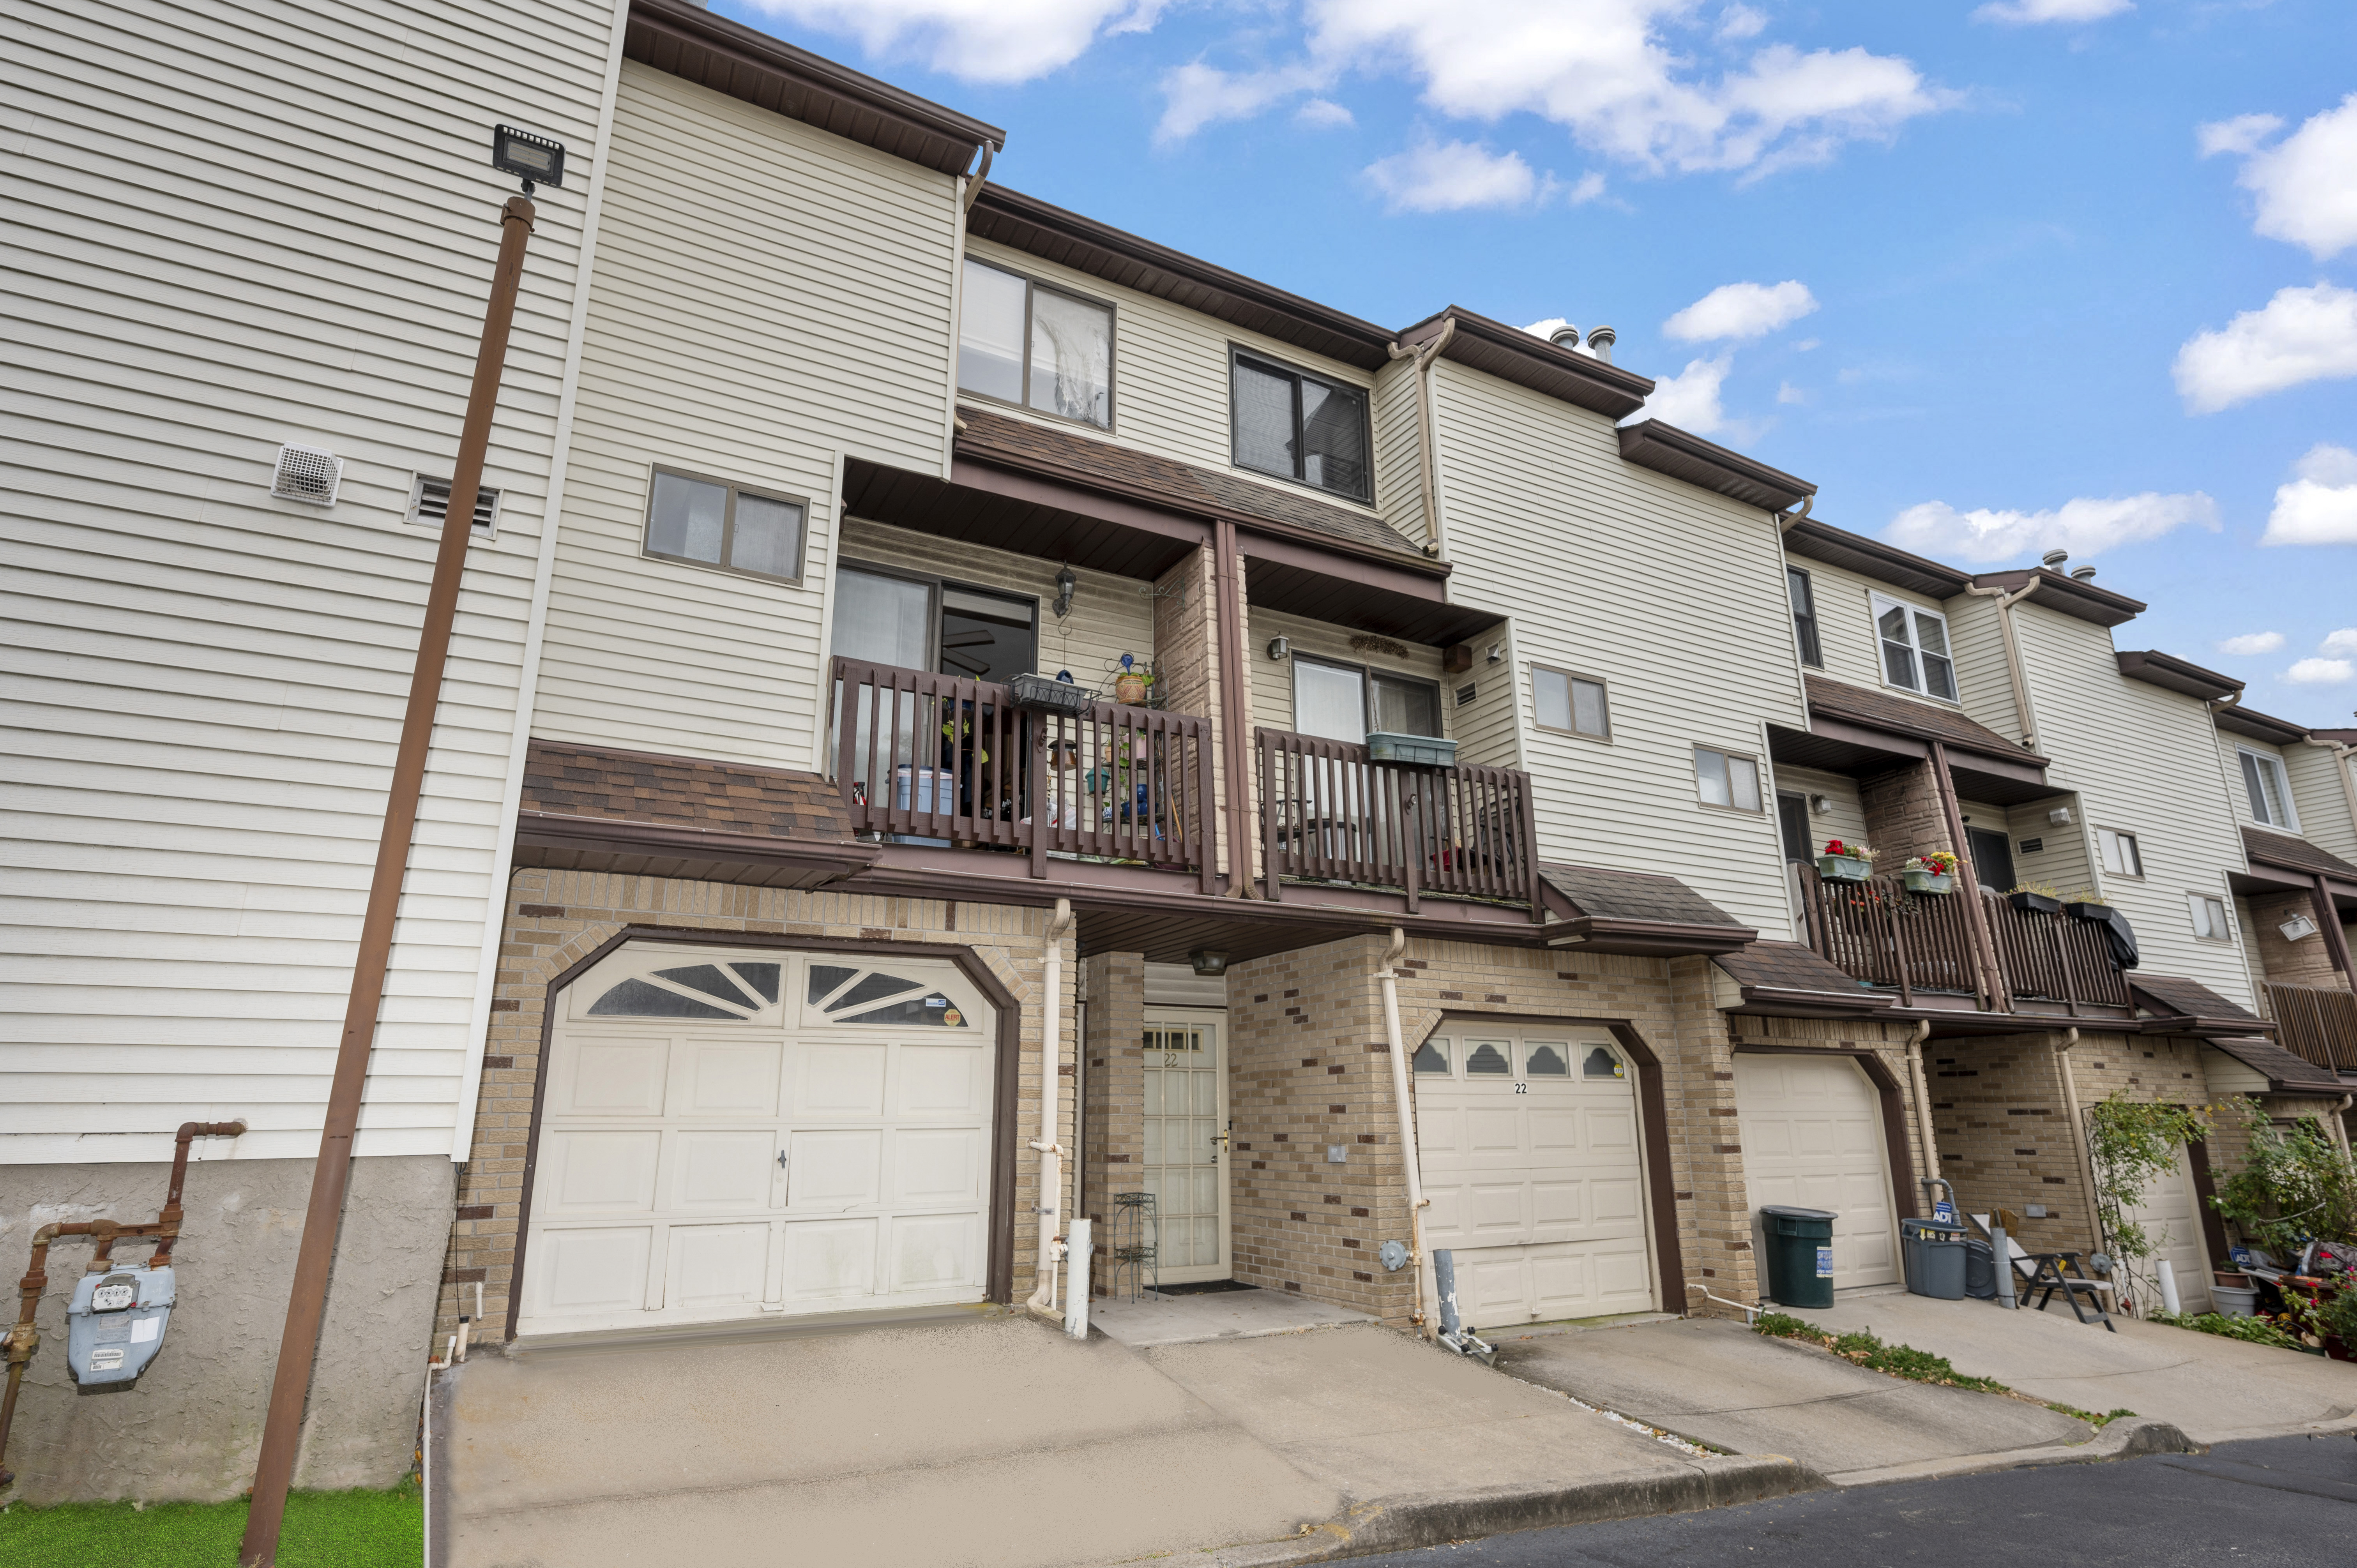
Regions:
<instances>
[{"instance_id":1,"label":"beige siding back wall inside the leftmost balcony, above its sliding door","mask_svg":"<svg viewBox=\"0 0 2357 1568\"><path fill-rule=\"evenodd\" d=\"M1122 653L1138 667L1155 658L1155 611L1150 582L1105 571L1072 568L1072 613L1056 620L1056 561L1018 556L988 545L943 540L865 519L844 519L841 564L922 573L948 582L971 582L1039 601L1039 672L1070 670L1089 691L1113 696Z\"/></svg>"}]
</instances>

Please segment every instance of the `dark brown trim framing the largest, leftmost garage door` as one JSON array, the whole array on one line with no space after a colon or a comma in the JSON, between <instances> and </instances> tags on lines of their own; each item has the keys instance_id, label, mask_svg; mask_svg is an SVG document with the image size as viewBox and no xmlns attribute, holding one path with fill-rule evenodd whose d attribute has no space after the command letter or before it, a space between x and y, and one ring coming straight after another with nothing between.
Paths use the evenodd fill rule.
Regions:
<instances>
[{"instance_id":1,"label":"dark brown trim framing the largest, leftmost garage door","mask_svg":"<svg viewBox=\"0 0 2357 1568\"><path fill-rule=\"evenodd\" d=\"M516 1252L507 1266L507 1337L516 1337L516 1320L523 1313L523 1250L533 1231L533 1177L540 1170L540 1108L549 1094L549 1045L556 1035L556 993L589 974L592 967L613 957L629 943L658 943L669 948L780 948L792 953L891 953L900 957L945 957L959 974L973 981L999 1014L997 1061L990 1103L990 1261L983 1273L983 1297L990 1302L1014 1299L1014 1203L1016 1203L1016 1089L1023 1066L1023 1004L990 974L990 964L973 955L973 948L919 941L874 941L865 936L794 936L778 931L719 931L709 927L622 927L596 946L580 962L547 983L540 1009L540 1066L533 1068L533 1122L523 1144L523 1191L516 1203ZM469 1129L469 1151L474 1146Z\"/></svg>"}]
</instances>

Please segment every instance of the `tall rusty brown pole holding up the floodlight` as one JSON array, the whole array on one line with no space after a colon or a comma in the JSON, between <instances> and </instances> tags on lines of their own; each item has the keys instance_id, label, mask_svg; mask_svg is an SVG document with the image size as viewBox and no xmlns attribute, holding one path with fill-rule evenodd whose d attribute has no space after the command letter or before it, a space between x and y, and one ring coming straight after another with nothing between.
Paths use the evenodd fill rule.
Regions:
<instances>
[{"instance_id":1,"label":"tall rusty brown pole holding up the floodlight","mask_svg":"<svg viewBox=\"0 0 2357 1568\"><path fill-rule=\"evenodd\" d=\"M255 1502L245 1516L245 1544L238 1547L240 1568L269 1568L278 1561L278 1526L285 1518L288 1485L295 1478L295 1448L302 1441L302 1412L311 1396L311 1361L318 1356L318 1325L328 1309L335 1233L344 1221L344 1188L351 1181L351 1134L361 1122L361 1089L368 1082L368 1054L377 1037L377 1012L384 1004L394 915L401 910L401 879L408 872L410 837L417 828L427 745L434 740L434 710L441 703L443 665L450 658L450 622L457 615L474 500L483 486L483 453L490 448L490 415L500 401L507 332L516 318L516 283L523 278L523 248L533 236L533 203L521 196L509 196L500 212L500 262L490 274L490 302L483 309L483 340L474 356L467 422L460 427L457 465L450 472L450 507L443 514L434 582L427 589L427 618L417 632L410 703L401 717L401 747L394 752L384 830L377 837L377 868L368 882L361 950L351 967L351 997L344 1004L344 1037L337 1045L335 1080L328 1087L328 1125L321 1129L318 1165L311 1170L311 1207L302 1221L295 1287L288 1292L288 1323L278 1342L278 1375L271 1382L269 1415L262 1424Z\"/></svg>"}]
</instances>

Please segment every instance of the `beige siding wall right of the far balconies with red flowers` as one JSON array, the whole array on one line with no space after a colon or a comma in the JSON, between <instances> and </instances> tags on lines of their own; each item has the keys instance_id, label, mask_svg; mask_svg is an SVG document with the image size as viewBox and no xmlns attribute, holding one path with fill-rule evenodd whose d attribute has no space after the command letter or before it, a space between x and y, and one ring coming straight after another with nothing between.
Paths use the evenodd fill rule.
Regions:
<instances>
[{"instance_id":1,"label":"beige siding wall right of the far balconies with red flowers","mask_svg":"<svg viewBox=\"0 0 2357 1568\"><path fill-rule=\"evenodd\" d=\"M2234 813L2213 783L2209 707L2124 679L2105 627L2039 604L2018 606L2013 618L2039 740L2053 757L2048 780L2079 795L2084 825L2135 832L2145 861L2143 882L2100 870L2091 882L2135 927L2145 969L2199 981L2249 1007L2242 943L2197 941L2185 903L2192 891L2232 898L2227 872L2244 865Z\"/></svg>"}]
</instances>

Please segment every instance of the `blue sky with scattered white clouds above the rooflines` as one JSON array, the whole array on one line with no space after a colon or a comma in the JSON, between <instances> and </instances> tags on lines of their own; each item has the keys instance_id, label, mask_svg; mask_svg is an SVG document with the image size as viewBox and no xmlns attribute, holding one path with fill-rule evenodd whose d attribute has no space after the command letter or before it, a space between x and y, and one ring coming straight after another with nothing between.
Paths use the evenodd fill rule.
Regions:
<instances>
[{"instance_id":1,"label":"blue sky with scattered white clouds above the rooflines","mask_svg":"<svg viewBox=\"0 0 2357 1568\"><path fill-rule=\"evenodd\" d=\"M2357 707L2348 0L717 0L1386 325L1610 323L1817 516ZM2272 540L2272 542L2265 542Z\"/></svg>"}]
</instances>

